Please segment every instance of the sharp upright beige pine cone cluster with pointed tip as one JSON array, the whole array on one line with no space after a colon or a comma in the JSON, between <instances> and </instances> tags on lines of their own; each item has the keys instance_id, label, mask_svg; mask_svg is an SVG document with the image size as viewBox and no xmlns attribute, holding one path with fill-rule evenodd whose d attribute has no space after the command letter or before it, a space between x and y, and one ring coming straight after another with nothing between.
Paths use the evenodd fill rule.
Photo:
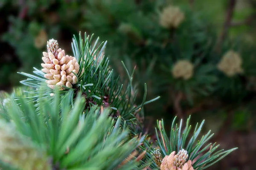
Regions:
<instances>
[{"instance_id":1,"label":"sharp upright beige pine cone cluster with pointed tip","mask_svg":"<svg viewBox=\"0 0 256 170\"><path fill-rule=\"evenodd\" d=\"M64 90L61 86L64 85L68 88L72 88L72 85L78 82L75 74L79 72L79 64L75 57L65 56L65 51L58 48L58 42L56 40L49 40L47 42L47 52L43 52L42 71L46 73L44 75L48 87L54 89L55 86Z\"/></svg>"}]
</instances>

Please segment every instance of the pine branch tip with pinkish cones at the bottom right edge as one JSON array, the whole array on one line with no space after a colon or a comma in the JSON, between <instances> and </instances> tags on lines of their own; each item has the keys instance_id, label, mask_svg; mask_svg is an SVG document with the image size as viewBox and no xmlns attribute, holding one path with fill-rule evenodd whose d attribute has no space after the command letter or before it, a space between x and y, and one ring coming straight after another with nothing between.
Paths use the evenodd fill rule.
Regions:
<instances>
[{"instance_id":1,"label":"pine branch tip with pinkish cones at the bottom right edge","mask_svg":"<svg viewBox=\"0 0 256 170\"><path fill-rule=\"evenodd\" d=\"M175 125L175 119L172 122L170 136L167 136L166 134L163 120L159 122L157 121L156 135L157 147L160 148L159 150L151 148L151 144L147 141L144 143L145 146L141 147L144 150L150 150L147 152L147 157L148 159L154 160L153 164L151 164L151 168L160 169L161 167L162 169L163 167L167 168L169 166L172 168L177 168L177 166L188 166L188 168L203 170L237 149L233 148L226 151L217 151L219 145L216 145L216 143L207 144L209 139L213 136L213 134L211 134L211 130L209 130L209 132L200 139L199 133L204 125L204 121L201 122L199 127L198 124L195 126L195 130L192 132L191 138L188 139L191 130L191 125L189 125L190 116L187 119L186 126L184 128L182 128L182 119L180 120L179 125ZM175 153L177 154L175 155ZM180 154L184 155L179 158ZM175 159L171 159L172 156L174 156ZM166 165L166 159L170 159L172 161ZM175 160L180 161L176 162Z\"/></svg>"}]
</instances>

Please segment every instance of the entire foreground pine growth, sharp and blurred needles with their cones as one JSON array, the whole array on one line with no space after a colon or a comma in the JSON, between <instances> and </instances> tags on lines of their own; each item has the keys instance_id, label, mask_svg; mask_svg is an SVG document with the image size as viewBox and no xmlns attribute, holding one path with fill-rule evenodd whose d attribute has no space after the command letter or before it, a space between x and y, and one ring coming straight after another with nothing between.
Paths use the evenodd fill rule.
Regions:
<instances>
[{"instance_id":1,"label":"entire foreground pine growth, sharp and blurred needles with their cones","mask_svg":"<svg viewBox=\"0 0 256 170\"><path fill-rule=\"evenodd\" d=\"M174 122L170 139L160 121L157 142L143 133L143 105L133 87L133 74L125 68L125 86L113 74L104 56L106 42L98 44L85 34L74 37L73 55L65 55L56 40L49 40L42 68L21 81L0 105L0 167L20 170L202 170L234 149L215 151L206 144L210 131L196 142L189 119L181 133ZM92 45L93 44L93 45ZM175 120L174 120L175 121ZM197 128L198 127L198 128ZM159 136L160 134L160 136ZM159 147L152 150L153 146ZM210 149L208 149L210 147Z\"/></svg>"}]
</instances>

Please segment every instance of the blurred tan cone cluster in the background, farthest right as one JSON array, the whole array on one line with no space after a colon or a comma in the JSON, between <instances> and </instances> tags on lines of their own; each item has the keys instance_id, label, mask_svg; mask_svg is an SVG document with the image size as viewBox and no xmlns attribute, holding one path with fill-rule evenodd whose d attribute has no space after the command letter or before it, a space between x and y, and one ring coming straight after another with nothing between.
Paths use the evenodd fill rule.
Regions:
<instances>
[{"instance_id":1,"label":"blurred tan cone cluster in the background, farthest right","mask_svg":"<svg viewBox=\"0 0 256 170\"><path fill-rule=\"evenodd\" d=\"M217 68L228 77L233 77L236 74L243 73L243 68L241 67L241 65L242 59L240 55L235 51L230 50L226 54L224 54Z\"/></svg>"}]
</instances>

